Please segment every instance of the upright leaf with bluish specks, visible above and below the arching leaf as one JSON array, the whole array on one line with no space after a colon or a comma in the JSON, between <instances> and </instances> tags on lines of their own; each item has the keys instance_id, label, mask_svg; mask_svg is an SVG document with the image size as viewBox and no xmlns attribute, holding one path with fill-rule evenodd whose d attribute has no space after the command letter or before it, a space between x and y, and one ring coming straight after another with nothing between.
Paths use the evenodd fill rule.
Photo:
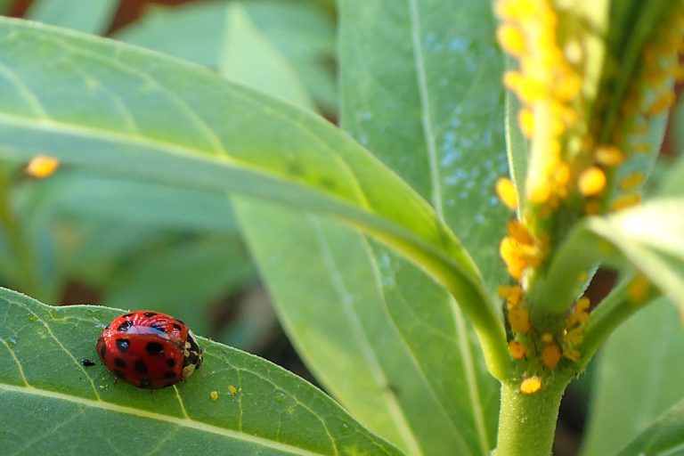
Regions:
<instances>
[{"instance_id":1,"label":"upright leaf with bluish specks, visible above and below the arching leaf","mask_svg":"<svg viewBox=\"0 0 684 456\"><path fill-rule=\"evenodd\" d=\"M509 214L494 196L506 155L490 5L350 1L340 2L340 16L342 126L460 233L494 289L505 277L496 246ZM368 261L405 349L460 429L463 440L451 452L487 452L498 389L468 342L468 323L444 290L402 258L376 245ZM427 454L450 452L450 443L431 446L426 435L419 441Z\"/></svg>"}]
</instances>

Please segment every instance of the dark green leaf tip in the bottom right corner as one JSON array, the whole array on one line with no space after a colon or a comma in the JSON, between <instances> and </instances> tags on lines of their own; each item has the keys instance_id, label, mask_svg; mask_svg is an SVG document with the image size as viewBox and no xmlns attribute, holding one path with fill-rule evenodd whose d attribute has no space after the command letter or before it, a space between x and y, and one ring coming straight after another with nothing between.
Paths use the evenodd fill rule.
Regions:
<instances>
[{"instance_id":1,"label":"dark green leaf tip in the bottom right corner","mask_svg":"<svg viewBox=\"0 0 684 456\"><path fill-rule=\"evenodd\" d=\"M684 452L684 401L669 411L627 445L619 456L631 454L671 455Z\"/></svg>"}]
</instances>

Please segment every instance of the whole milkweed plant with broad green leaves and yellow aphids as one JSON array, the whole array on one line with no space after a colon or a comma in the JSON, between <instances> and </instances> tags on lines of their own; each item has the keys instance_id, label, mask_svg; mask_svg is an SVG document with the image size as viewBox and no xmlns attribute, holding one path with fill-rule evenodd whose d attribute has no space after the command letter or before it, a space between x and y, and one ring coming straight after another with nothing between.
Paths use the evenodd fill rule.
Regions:
<instances>
[{"instance_id":1,"label":"whole milkweed plant with broad green leaves and yellow aphids","mask_svg":"<svg viewBox=\"0 0 684 456\"><path fill-rule=\"evenodd\" d=\"M0 273L59 304L63 283L45 277L68 273L45 264L31 234L45 217L27 208L75 180L85 220L109 209L105 183L124 214L152 189L197 201L192 220L232 208L330 396L205 338L203 370L143 395L77 362L121 311L4 290L0 411L24 417L0 448L87 431L106 449L108 433L144 429L151 446L134 452L550 454L566 387L609 336L657 300L684 310L684 162L656 161L684 78L684 2L257 4L159 9L110 38L64 15L0 20ZM140 210L195 205L165 204ZM617 281L592 299L599 267ZM660 337L648 330L645 346ZM53 431L22 434L43 420ZM684 452L684 409L639 432L609 450Z\"/></svg>"}]
</instances>

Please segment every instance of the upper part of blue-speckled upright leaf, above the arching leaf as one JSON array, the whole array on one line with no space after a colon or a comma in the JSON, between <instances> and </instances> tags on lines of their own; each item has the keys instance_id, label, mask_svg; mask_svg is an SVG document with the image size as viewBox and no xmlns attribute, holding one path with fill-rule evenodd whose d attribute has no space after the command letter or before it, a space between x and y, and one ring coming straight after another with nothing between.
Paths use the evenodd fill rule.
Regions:
<instances>
[{"instance_id":1,"label":"upper part of blue-speckled upright leaf, above the arching leaf","mask_svg":"<svg viewBox=\"0 0 684 456\"><path fill-rule=\"evenodd\" d=\"M340 16L343 127L430 201L495 288L510 215L494 191L508 167L491 5L356 0Z\"/></svg>"}]
</instances>

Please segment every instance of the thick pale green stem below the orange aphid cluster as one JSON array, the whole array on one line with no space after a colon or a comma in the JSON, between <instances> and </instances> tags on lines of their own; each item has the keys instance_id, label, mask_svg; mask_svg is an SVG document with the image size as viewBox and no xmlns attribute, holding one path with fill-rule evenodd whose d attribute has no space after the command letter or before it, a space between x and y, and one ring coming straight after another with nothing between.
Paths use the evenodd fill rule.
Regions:
<instances>
[{"instance_id":1,"label":"thick pale green stem below the orange aphid cluster","mask_svg":"<svg viewBox=\"0 0 684 456\"><path fill-rule=\"evenodd\" d=\"M532 395L518 382L501 384L501 412L496 456L549 456L556 433L560 398L570 377L545 379Z\"/></svg>"}]
</instances>

